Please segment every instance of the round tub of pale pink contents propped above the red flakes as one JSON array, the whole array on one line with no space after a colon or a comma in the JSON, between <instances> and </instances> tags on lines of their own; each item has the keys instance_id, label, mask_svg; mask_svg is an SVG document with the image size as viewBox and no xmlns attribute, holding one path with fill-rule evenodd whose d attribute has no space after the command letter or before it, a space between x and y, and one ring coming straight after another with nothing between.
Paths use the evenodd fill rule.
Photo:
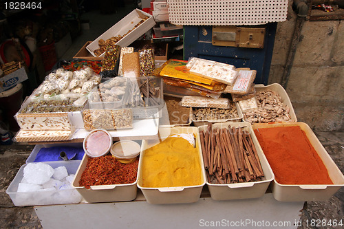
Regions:
<instances>
[{"instance_id":1,"label":"round tub of pale pink contents propped above the red flakes","mask_svg":"<svg viewBox=\"0 0 344 229\"><path fill-rule=\"evenodd\" d=\"M84 151L89 157L100 157L109 153L112 136L104 129L94 129L83 141Z\"/></svg>"}]
</instances>

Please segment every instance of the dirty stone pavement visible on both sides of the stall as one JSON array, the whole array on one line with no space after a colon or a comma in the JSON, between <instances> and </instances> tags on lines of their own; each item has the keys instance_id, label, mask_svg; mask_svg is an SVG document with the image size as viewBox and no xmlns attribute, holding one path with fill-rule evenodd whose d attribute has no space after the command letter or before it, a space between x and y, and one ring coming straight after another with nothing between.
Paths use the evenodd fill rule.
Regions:
<instances>
[{"instance_id":1,"label":"dirty stone pavement visible on both sides of the stall","mask_svg":"<svg viewBox=\"0 0 344 229\"><path fill-rule=\"evenodd\" d=\"M327 152L344 173L344 132L316 132ZM16 207L6 194L10 182L33 149L33 145L12 144L0 146L0 228L42 228L32 206ZM312 201L305 204L299 228L343 228L321 226L319 220L344 223L344 188L327 201ZM307 225L308 220L308 225ZM311 226L311 222L320 226Z\"/></svg>"}]
</instances>

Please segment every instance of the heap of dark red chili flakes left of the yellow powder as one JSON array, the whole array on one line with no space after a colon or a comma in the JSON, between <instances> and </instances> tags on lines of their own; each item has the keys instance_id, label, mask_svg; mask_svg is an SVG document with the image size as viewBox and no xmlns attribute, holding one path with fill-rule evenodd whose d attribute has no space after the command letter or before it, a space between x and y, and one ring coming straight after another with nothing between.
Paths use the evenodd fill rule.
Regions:
<instances>
[{"instance_id":1,"label":"heap of dark red chili flakes left of the yellow powder","mask_svg":"<svg viewBox=\"0 0 344 229\"><path fill-rule=\"evenodd\" d=\"M89 189L92 185L131 184L136 181L138 160L122 164L111 155L89 158L79 186Z\"/></svg>"}]
</instances>

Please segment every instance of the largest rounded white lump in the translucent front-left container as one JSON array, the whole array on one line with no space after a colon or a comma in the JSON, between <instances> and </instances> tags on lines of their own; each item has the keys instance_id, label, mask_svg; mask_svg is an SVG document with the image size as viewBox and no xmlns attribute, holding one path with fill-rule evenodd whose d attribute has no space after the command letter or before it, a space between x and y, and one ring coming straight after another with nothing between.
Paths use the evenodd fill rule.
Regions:
<instances>
[{"instance_id":1,"label":"largest rounded white lump in the translucent front-left container","mask_svg":"<svg viewBox=\"0 0 344 229\"><path fill-rule=\"evenodd\" d=\"M43 162L29 163L24 168L26 181L30 184L44 184L54 174L54 168Z\"/></svg>"}]
</instances>

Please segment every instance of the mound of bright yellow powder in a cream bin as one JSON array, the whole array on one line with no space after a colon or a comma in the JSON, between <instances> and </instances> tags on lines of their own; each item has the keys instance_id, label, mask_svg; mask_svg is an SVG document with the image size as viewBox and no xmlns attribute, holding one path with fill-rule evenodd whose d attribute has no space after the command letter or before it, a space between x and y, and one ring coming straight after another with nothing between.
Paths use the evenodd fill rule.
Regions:
<instances>
[{"instance_id":1,"label":"mound of bright yellow powder in a cream bin","mask_svg":"<svg viewBox=\"0 0 344 229\"><path fill-rule=\"evenodd\" d=\"M142 187L196 186L202 182L200 155L184 138L166 138L144 152Z\"/></svg>"}]
</instances>

